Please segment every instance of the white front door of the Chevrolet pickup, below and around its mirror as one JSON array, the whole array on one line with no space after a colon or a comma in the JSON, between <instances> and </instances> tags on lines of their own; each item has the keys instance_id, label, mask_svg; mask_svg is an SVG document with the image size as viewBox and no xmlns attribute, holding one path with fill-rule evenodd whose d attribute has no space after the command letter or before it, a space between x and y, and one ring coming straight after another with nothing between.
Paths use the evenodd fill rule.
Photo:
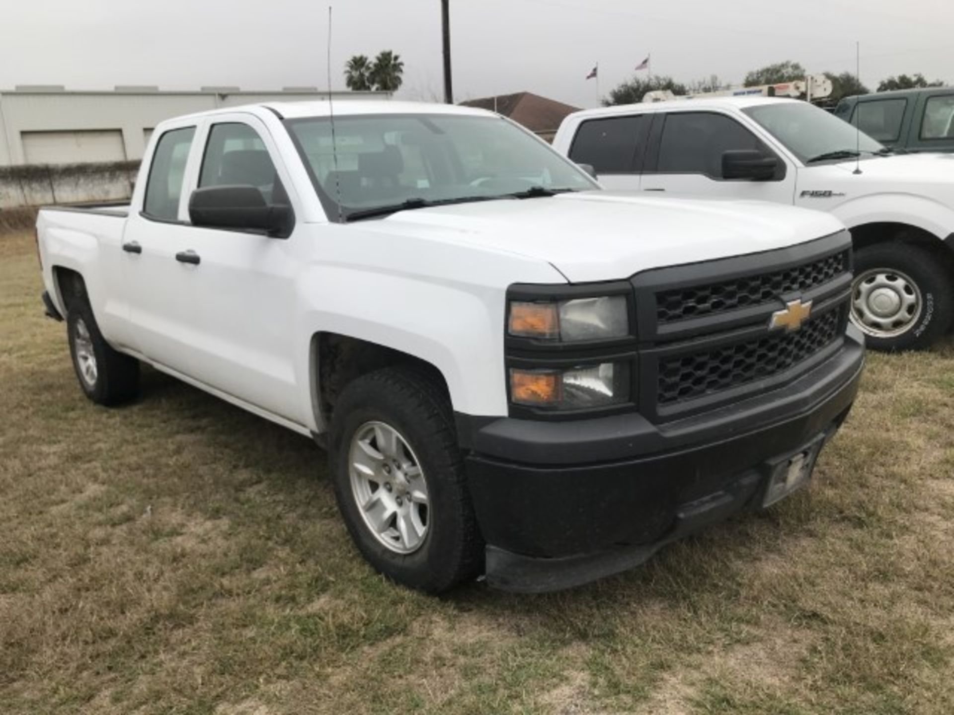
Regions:
<instances>
[{"instance_id":1,"label":"white front door of the Chevrolet pickup, below and around its mirror","mask_svg":"<svg viewBox=\"0 0 954 715\"><path fill-rule=\"evenodd\" d=\"M282 186L290 185L271 136L248 114L216 116L197 143L204 163L190 173L183 211L196 188L257 186L272 201L276 176ZM183 372L301 422L293 369L294 281L301 260L294 255L296 235L274 238L196 226L186 231L200 263L185 287L193 304L183 318L192 341L189 370Z\"/></svg>"}]
</instances>

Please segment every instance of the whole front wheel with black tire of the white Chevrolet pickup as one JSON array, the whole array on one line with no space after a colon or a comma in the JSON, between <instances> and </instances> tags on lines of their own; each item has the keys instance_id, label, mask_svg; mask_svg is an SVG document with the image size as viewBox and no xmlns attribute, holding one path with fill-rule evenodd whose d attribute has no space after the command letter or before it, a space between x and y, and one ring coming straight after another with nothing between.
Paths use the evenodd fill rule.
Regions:
<instances>
[{"instance_id":1,"label":"whole front wheel with black tire of the white Chevrolet pickup","mask_svg":"<svg viewBox=\"0 0 954 715\"><path fill-rule=\"evenodd\" d=\"M331 472L342 518L387 578L440 593L475 578L483 541L450 405L432 379L386 368L335 406Z\"/></svg>"}]
</instances>

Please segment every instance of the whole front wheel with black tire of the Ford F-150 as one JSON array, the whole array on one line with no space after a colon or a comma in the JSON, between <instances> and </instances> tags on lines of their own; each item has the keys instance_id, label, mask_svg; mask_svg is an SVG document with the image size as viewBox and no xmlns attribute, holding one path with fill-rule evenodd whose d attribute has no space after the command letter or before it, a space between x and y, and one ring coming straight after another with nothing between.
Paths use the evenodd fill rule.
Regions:
<instances>
[{"instance_id":1,"label":"whole front wheel with black tire of the Ford F-150","mask_svg":"<svg viewBox=\"0 0 954 715\"><path fill-rule=\"evenodd\" d=\"M855 253L851 319L873 350L923 350L944 336L954 289L936 256L895 241Z\"/></svg>"}]
</instances>

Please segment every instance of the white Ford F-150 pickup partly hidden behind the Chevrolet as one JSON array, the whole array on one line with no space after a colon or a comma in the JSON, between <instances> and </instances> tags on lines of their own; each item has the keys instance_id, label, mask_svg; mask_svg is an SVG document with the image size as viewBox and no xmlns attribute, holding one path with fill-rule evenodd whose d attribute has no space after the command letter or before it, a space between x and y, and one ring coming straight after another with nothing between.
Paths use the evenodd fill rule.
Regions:
<instances>
[{"instance_id":1,"label":"white Ford F-150 pickup partly hidden behind the Chevrolet","mask_svg":"<svg viewBox=\"0 0 954 715\"><path fill-rule=\"evenodd\" d=\"M954 319L954 154L900 154L795 99L717 97L568 116L553 147L603 186L831 212L855 249L852 320L880 350Z\"/></svg>"}]
</instances>

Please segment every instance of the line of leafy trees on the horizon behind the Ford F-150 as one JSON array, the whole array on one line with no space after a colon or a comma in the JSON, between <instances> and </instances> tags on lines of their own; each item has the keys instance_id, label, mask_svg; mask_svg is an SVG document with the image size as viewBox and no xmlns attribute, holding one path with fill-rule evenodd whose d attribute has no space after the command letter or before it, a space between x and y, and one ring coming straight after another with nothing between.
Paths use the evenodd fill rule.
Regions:
<instances>
[{"instance_id":1,"label":"line of leafy trees on the horizon behind the Ford F-150","mask_svg":"<svg viewBox=\"0 0 954 715\"><path fill-rule=\"evenodd\" d=\"M794 82L798 79L804 79L808 72L798 62L786 60L773 65L748 72L745 75L743 86L757 87L759 85L777 85L782 82ZM862 82L851 72L823 72L823 74L832 81L832 93L826 97L822 104L835 106L842 97L854 96L856 94L870 94L869 90ZM635 104L643 100L647 92L657 90L668 90L674 94L689 94L691 92L714 92L716 90L729 89L730 85L722 83L715 74L707 78L695 80L694 82L678 82L673 77L657 74L653 77L633 77L623 82L610 91L609 96L603 99L603 104L611 106L614 104ZM922 87L944 87L944 82L940 79L929 82L924 78L921 72L913 75L898 74L897 76L887 77L878 83L878 89L875 92L889 92L891 90L911 90Z\"/></svg>"}]
</instances>

